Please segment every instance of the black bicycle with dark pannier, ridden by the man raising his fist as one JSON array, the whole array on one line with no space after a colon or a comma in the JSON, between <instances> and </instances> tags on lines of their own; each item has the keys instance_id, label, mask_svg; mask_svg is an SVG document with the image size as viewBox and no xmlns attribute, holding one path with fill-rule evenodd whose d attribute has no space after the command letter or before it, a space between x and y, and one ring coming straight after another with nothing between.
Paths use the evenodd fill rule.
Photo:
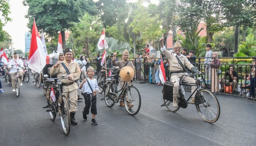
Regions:
<instances>
[{"instance_id":1,"label":"black bicycle with dark pannier, ridden by the man raising his fist","mask_svg":"<svg viewBox=\"0 0 256 146\"><path fill-rule=\"evenodd\" d=\"M190 85L190 86L196 86L197 89L189 96L189 98L186 100L184 95L181 92L181 88L179 87L179 97L178 97L178 107L174 108L172 104L173 100L173 83L171 81L168 81L164 84L163 87L163 101L164 103L161 105L165 106L167 110L171 112L176 112L181 108L187 108L188 106L188 101L191 99L192 95L196 92L195 96L195 105L197 112L200 113L202 118L209 123L214 123L219 119L220 116L220 106L219 106L219 101L217 97L211 92L208 91L205 88L200 87L200 83L203 81L203 78L198 77L196 78L196 75L202 74L201 72L196 72L194 74L184 74L181 77L180 80L180 85ZM193 77L196 81L195 84L193 83L186 83L183 82L182 80L184 79L183 77ZM169 92L168 92L169 91Z\"/></svg>"}]
</instances>

